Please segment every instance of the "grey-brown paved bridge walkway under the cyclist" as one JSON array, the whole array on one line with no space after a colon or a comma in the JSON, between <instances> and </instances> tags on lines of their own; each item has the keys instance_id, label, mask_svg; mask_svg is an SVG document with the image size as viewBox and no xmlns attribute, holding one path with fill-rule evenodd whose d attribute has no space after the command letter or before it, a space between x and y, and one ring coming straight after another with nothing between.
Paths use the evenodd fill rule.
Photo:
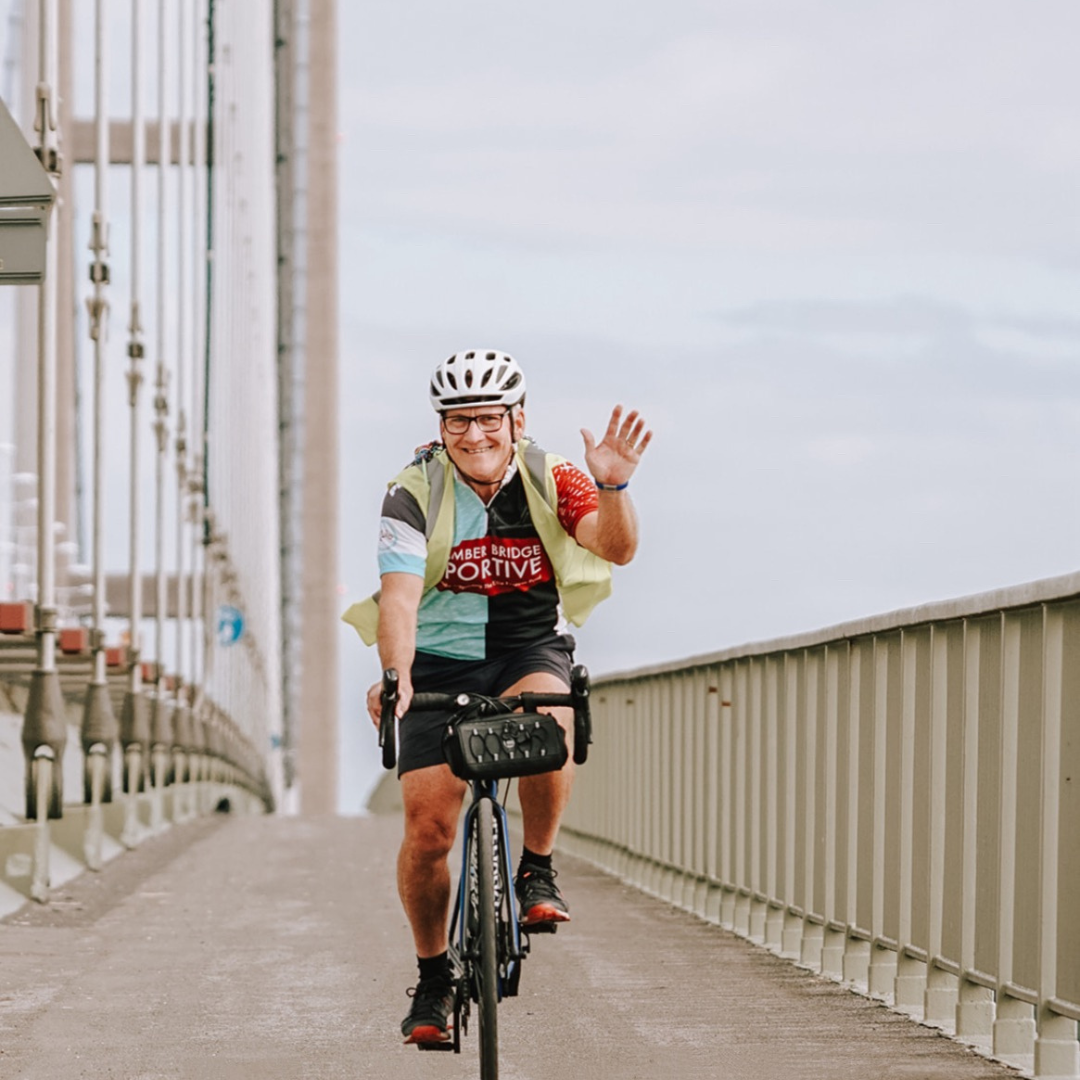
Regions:
<instances>
[{"instance_id":1,"label":"grey-brown paved bridge walkway under the cyclist","mask_svg":"<svg viewBox=\"0 0 1080 1080\"><path fill-rule=\"evenodd\" d=\"M6 1080L463 1080L403 1048L392 815L217 815L0 924ZM507 1080L1002 1080L1004 1066L563 858L573 923L500 1013Z\"/></svg>"}]
</instances>

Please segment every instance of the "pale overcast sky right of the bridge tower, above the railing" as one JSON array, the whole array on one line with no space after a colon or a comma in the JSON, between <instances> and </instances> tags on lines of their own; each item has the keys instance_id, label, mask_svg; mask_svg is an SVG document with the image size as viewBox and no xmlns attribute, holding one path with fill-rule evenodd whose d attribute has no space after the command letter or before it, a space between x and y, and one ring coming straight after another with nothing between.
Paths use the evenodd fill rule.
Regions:
<instances>
[{"instance_id":1,"label":"pale overcast sky right of the bridge tower, above the railing","mask_svg":"<svg viewBox=\"0 0 1080 1080\"><path fill-rule=\"evenodd\" d=\"M550 449L656 429L595 674L1078 568L1074 0L339 17L345 599L474 346Z\"/></svg>"}]
</instances>

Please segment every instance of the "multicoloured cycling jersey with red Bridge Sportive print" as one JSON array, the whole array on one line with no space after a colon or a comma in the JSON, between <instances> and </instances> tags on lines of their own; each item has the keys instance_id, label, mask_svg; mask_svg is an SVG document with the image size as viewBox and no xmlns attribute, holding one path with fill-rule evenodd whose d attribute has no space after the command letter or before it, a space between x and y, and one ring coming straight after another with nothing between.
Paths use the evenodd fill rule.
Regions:
<instances>
[{"instance_id":1,"label":"multicoloured cycling jersey with red Bridge Sportive print","mask_svg":"<svg viewBox=\"0 0 1080 1080\"><path fill-rule=\"evenodd\" d=\"M581 518L596 510L596 485L566 461L551 473L558 524L572 537ZM559 621L558 589L516 458L486 505L457 470L453 482L453 542L442 579L420 602L417 649L484 660L550 635ZM424 577L428 548L424 512L395 484L382 504L379 572Z\"/></svg>"}]
</instances>

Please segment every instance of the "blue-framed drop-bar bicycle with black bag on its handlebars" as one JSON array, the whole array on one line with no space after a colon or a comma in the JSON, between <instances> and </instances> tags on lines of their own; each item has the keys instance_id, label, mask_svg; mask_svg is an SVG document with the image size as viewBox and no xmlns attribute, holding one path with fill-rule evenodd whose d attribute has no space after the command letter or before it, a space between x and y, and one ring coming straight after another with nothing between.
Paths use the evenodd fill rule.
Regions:
<instances>
[{"instance_id":1,"label":"blue-framed drop-bar bicycle with black bag on its handlebars","mask_svg":"<svg viewBox=\"0 0 1080 1080\"><path fill-rule=\"evenodd\" d=\"M382 675L379 745L382 765L397 761L395 714L397 673ZM510 826L499 783L515 775L554 771L566 762L566 737L541 706L573 708L573 760L583 765L592 742L589 672L581 664L570 675L569 693L519 693L487 698L475 693L417 693L409 712L453 710L444 751L455 773L468 780L472 799L465 809L461 875L450 918L454 978L454 1034L445 1043L418 1043L421 1050L461 1053L472 1007L480 1034L481 1080L498 1080L497 1008L515 997L530 933L554 933L555 923L523 927L514 897ZM516 712L522 710L522 712ZM562 753L559 753L559 745ZM509 788L508 788L509 789Z\"/></svg>"}]
</instances>

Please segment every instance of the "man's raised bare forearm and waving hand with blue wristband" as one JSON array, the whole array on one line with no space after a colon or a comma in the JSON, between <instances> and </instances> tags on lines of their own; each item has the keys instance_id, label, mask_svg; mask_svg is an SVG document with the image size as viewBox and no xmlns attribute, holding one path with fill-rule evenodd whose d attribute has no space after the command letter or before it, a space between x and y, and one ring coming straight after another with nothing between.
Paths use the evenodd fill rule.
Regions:
<instances>
[{"instance_id":1,"label":"man's raised bare forearm and waving hand with blue wristband","mask_svg":"<svg viewBox=\"0 0 1080 1080\"><path fill-rule=\"evenodd\" d=\"M581 436L585 441L585 464L599 485L599 505L578 522L575 539L594 555L624 566L637 551L637 515L626 485L652 432L636 409L624 419L622 406L616 405L599 443L588 429L582 428Z\"/></svg>"}]
</instances>

